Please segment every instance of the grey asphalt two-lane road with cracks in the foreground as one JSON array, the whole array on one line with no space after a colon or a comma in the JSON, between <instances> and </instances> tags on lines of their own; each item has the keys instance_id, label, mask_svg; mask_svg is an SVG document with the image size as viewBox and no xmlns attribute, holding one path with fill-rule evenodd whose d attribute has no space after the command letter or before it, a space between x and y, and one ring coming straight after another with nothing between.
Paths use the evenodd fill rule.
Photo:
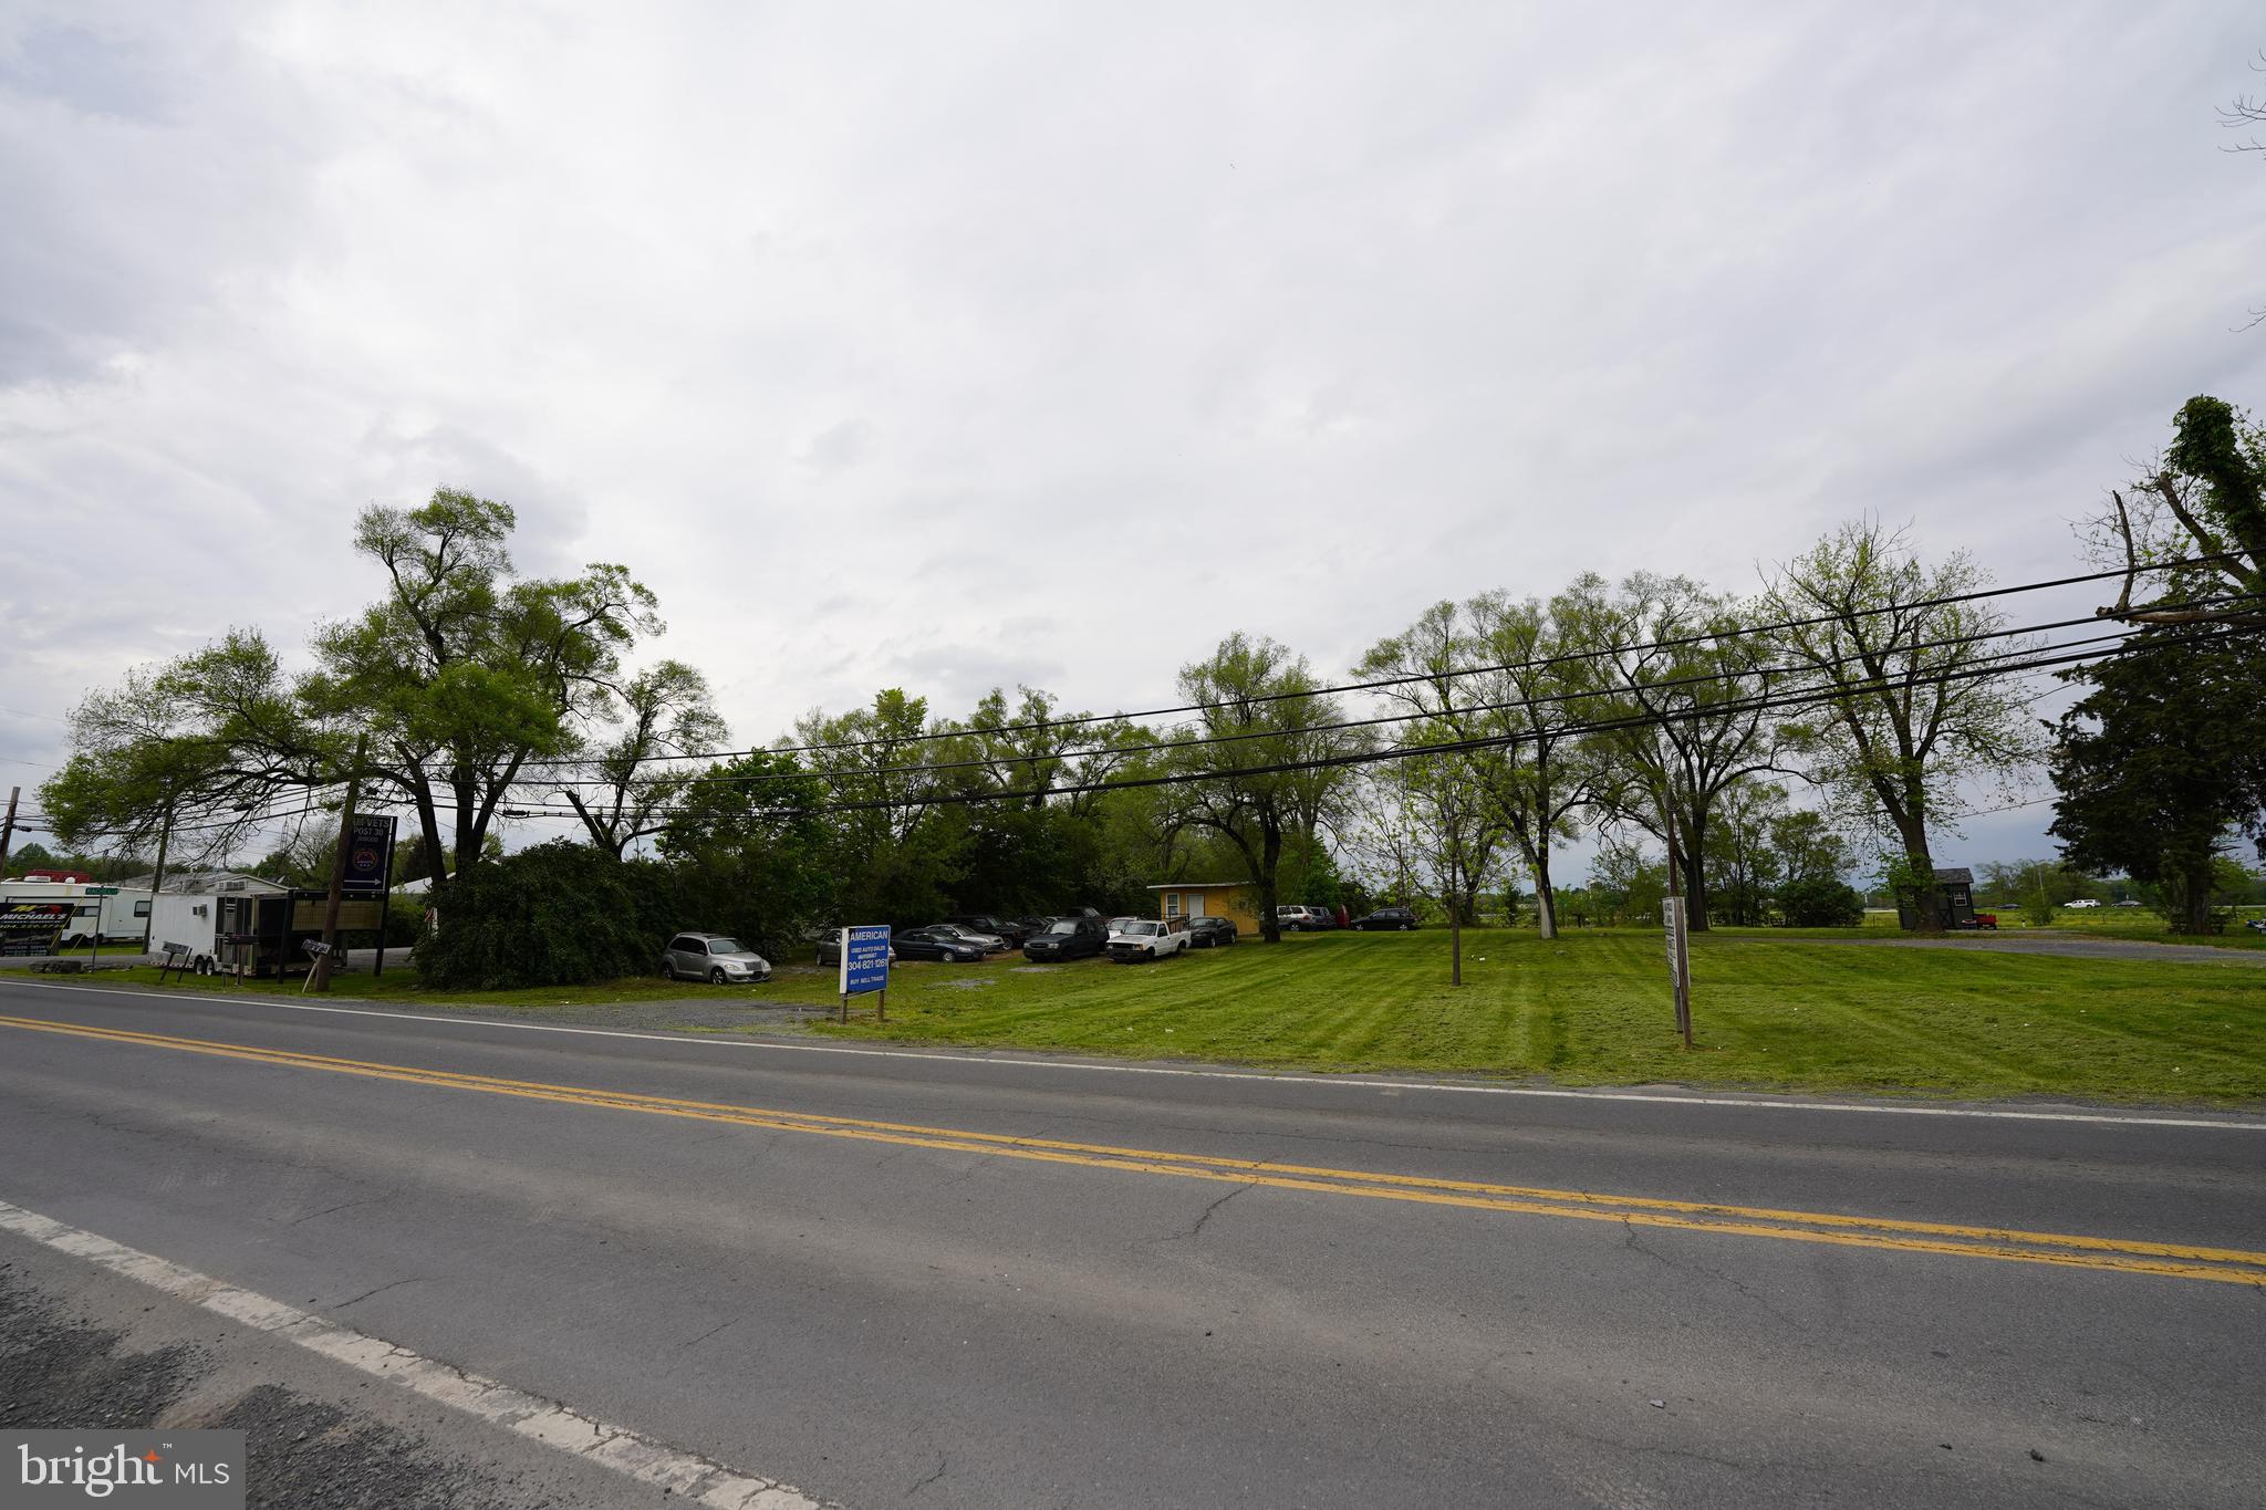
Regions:
<instances>
[{"instance_id":1,"label":"grey asphalt two-lane road with cracks in the foreground","mask_svg":"<svg viewBox=\"0 0 2266 1510\"><path fill-rule=\"evenodd\" d=\"M0 1200L845 1505L2266 1483L2243 1118L1149 1075L11 980Z\"/></svg>"}]
</instances>

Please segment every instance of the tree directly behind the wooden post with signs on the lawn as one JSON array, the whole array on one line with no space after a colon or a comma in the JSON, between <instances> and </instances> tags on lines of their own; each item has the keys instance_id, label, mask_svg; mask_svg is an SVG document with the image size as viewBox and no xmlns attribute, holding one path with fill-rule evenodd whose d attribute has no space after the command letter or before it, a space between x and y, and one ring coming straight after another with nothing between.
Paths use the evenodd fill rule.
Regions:
<instances>
[{"instance_id":1,"label":"tree directly behind the wooden post with signs on the lawn","mask_svg":"<svg viewBox=\"0 0 2266 1510\"><path fill-rule=\"evenodd\" d=\"M1690 577L1636 573L1620 589L1588 573L1550 607L1586 697L1598 761L1595 806L1661 840L1681 878L1693 928L1706 928L1709 826L1722 795L1779 770L1779 681L1752 607Z\"/></svg>"}]
</instances>

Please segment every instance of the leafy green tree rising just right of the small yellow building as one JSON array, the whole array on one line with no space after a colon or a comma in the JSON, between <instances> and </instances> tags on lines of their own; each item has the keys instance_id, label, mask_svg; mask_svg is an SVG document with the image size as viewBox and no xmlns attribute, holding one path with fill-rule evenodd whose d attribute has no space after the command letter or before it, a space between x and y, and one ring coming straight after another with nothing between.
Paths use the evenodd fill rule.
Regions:
<instances>
[{"instance_id":1,"label":"leafy green tree rising just right of the small yellow building","mask_svg":"<svg viewBox=\"0 0 2266 1510\"><path fill-rule=\"evenodd\" d=\"M1181 668L1181 695L1201 706L1174 740L1169 767L1201 779L1172 788L1172 813L1224 838L1242 860L1269 944L1283 942L1276 872L1285 838L1312 829L1346 781L1341 767L1310 763L1353 752L1346 731L1319 727L1339 720L1319 686L1305 657L1264 636L1230 634L1208 659Z\"/></svg>"}]
</instances>

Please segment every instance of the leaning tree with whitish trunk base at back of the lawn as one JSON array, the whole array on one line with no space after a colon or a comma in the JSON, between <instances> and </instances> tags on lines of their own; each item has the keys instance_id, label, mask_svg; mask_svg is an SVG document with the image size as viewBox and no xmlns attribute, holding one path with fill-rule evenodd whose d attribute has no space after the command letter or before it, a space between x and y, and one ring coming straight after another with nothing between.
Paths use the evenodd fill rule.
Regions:
<instances>
[{"instance_id":1,"label":"leaning tree with whitish trunk base at back of the lawn","mask_svg":"<svg viewBox=\"0 0 2266 1510\"><path fill-rule=\"evenodd\" d=\"M1455 758L1534 878L1534 915L1557 937L1550 851L1573 838L1573 815L1593 797L1593 772L1568 729L1582 677L1561 659L1564 632L1536 598L1482 593L1437 602L1396 636L1378 641L1355 675L1398 679L1391 704L1437 724L1448 740L1496 740Z\"/></svg>"}]
</instances>

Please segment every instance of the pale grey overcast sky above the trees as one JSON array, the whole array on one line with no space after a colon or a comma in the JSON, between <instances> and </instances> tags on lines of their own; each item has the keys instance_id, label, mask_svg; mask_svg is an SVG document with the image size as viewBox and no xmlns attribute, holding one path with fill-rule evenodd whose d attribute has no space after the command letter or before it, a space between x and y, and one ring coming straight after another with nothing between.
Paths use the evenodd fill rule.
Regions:
<instances>
[{"instance_id":1,"label":"pale grey overcast sky above the trees","mask_svg":"<svg viewBox=\"0 0 2266 1510\"><path fill-rule=\"evenodd\" d=\"M297 652L376 595L353 512L437 484L630 564L748 743L1749 589L1860 512L2082 570L2182 398L2266 405L2216 120L2261 45L2255 0L0 0L0 786L129 666Z\"/></svg>"}]
</instances>

